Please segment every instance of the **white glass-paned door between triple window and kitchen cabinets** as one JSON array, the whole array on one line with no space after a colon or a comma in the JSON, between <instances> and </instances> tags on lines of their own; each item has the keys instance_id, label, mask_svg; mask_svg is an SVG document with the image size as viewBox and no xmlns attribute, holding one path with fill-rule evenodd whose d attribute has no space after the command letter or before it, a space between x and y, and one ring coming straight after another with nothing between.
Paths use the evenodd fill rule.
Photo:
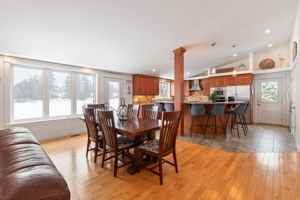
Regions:
<instances>
[{"instance_id":1,"label":"white glass-paned door between triple window and kitchen cabinets","mask_svg":"<svg viewBox=\"0 0 300 200\"><path fill-rule=\"evenodd\" d=\"M118 110L123 92L123 80L105 78L104 86L105 102L114 110Z\"/></svg>"}]
</instances>

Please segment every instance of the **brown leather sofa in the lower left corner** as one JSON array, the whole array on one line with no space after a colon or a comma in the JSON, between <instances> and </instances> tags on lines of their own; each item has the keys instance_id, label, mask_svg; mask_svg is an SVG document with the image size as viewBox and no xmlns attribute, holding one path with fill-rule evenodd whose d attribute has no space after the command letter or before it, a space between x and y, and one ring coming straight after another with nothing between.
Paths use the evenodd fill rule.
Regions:
<instances>
[{"instance_id":1,"label":"brown leather sofa in the lower left corner","mask_svg":"<svg viewBox=\"0 0 300 200\"><path fill-rule=\"evenodd\" d=\"M70 199L66 181L28 129L0 130L0 199Z\"/></svg>"}]
</instances>

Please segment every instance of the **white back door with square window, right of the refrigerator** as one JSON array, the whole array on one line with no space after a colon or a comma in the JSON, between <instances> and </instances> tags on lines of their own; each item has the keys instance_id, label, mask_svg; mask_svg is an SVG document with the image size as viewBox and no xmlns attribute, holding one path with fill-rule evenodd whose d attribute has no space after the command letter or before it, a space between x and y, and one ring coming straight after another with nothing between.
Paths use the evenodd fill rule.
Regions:
<instances>
[{"instance_id":1,"label":"white back door with square window, right of the refrigerator","mask_svg":"<svg viewBox=\"0 0 300 200\"><path fill-rule=\"evenodd\" d=\"M258 123L283 124L282 78L257 80L256 119Z\"/></svg>"}]
</instances>

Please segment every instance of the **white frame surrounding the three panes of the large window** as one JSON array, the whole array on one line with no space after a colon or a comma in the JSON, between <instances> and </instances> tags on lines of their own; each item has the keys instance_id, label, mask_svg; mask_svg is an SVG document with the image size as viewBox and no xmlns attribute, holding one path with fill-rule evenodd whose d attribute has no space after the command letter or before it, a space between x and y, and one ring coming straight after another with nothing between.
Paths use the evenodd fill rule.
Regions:
<instances>
[{"instance_id":1,"label":"white frame surrounding the three panes of the large window","mask_svg":"<svg viewBox=\"0 0 300 200\"><path fill-rule=\"evenodd\" d=\"M43 115L40 118L30 118L30 119L14 119L14 73L13 68L27 68L27 69L36 69L42 71L42 84L43 84ZM72 98L71 98L71 114L70 115L62 115L62 116L49 116L49 75L51 72L67 72L72 74ZM76 118L82 116L82 114L77 114L77 76L79 74L86 74L93 76L93 89L94 89L94 103L98 102L98 91L97 91L97 73L90 72L82 72L80 70L60 70L60 69L52 69L47 67L37 67L37 66L28 66L24 64L12 64L10 63L8 66L8 71L6 73L6 77L9 77L8 80L8 99L6 100L8 109L6 110L6 116L8 116L6 124L18 124L18 123L27 123L27 122L39 122L39 121L48 121L48 120L57 120L57 119L68 119L68 118Z\"/></svg>"}]
</instances>

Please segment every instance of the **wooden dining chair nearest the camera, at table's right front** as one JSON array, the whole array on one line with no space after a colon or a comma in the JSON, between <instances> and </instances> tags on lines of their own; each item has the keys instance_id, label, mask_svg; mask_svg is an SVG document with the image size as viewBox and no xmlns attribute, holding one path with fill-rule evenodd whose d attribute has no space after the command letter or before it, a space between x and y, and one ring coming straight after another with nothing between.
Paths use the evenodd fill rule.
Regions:
<instances>
[{"instance_id":1,"label":"wooden dining chair nearest the camera, at table's right front","mask_svg":"<svg viewBox=\"0 0 300 200\"><path fill-rule=\"evenodd\" d=\"M163 112L162 113L162 124L160 128L159 139L148 141L138 146L138 168L141 167L141 161L143 154L156 157L158 165L151 168L146 168L148 171L159 176L160 184L163 184L163 171L162 164L168 163L175 167L176 173L178 173L177 158L176 158L176 135L178 125L180 121L181 112ZM173 154L174 163L163 159L163 157ZM159 172L153 169L159 167Z\"/></svg>"}]
</instances>

